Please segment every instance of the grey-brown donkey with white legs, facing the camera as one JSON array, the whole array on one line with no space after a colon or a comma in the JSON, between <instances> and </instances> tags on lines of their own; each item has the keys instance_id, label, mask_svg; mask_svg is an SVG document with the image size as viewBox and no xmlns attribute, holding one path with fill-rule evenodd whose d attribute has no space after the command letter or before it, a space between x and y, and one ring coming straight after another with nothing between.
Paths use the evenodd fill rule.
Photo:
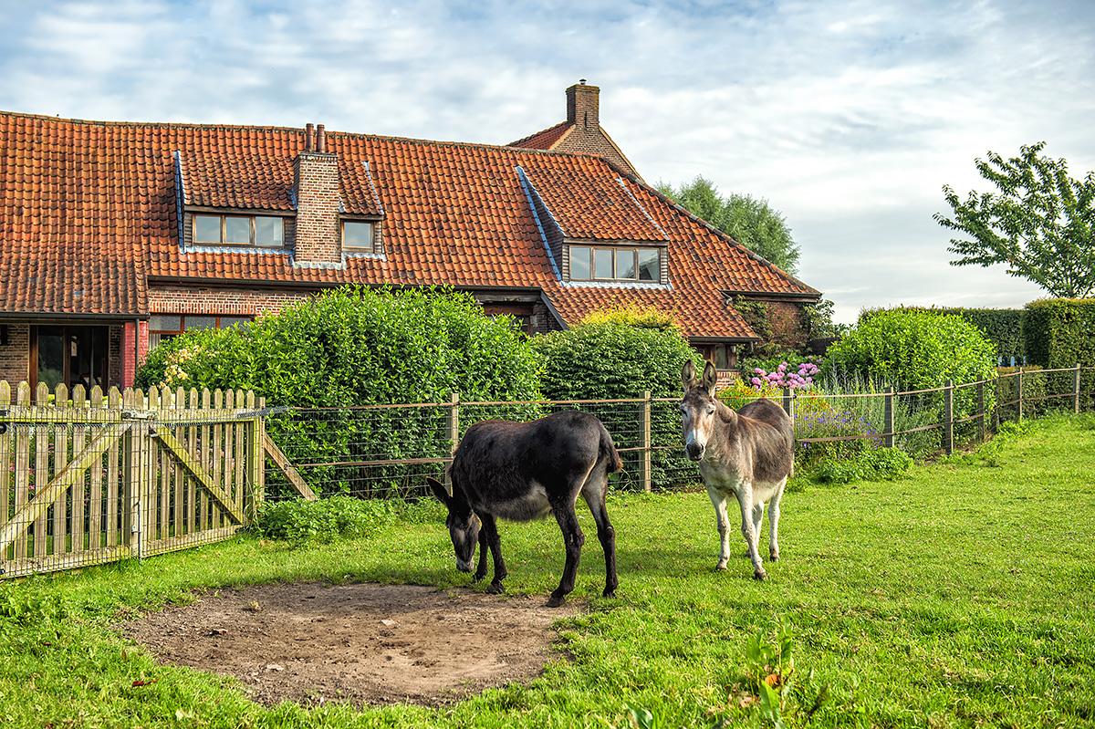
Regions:
<instances>
[{"instance_id":1,"label":"grey-brown donkey with white legs, facing the camera","mask_svg":"<svg viewBox=\"0 0 1095 729\"><path fill-rule=\"evenodd\" d=\"M700 383L691 359L681 370L684 450L691 460L700 462L700 473L715 507L721 539L716 568L726 569L730 556L726 500L734 496L741 508L741 535L749 547L753 578L762 580L766 575L760 559L760 522L764 504L770 501L769 555L775 562L780 558L780 499L795 470L794 424L782 407L766 397L735 413L715 398L717 377L711 362L703 368Z\"/></svg>"}]
</instances>

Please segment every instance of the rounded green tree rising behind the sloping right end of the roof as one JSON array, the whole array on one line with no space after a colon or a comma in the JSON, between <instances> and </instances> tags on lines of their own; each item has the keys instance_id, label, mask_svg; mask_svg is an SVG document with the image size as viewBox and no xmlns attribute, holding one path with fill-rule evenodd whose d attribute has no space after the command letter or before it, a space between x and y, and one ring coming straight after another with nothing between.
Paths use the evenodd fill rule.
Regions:
<instances>
[{"instance_id":1,"label":"rounded green tree rising behind the sloping right end of the roof","mask_svg":"<svg viewBox=\"0 0 1095 729\"><path fill-rule=\"evenodd\" d=\"M658 183L656 189L698 218L702 218L757 255L791 275L798 270L798 245L786 219L768 200L731 194L724 198L712 182L698 176L680 189Z\"/></svg>"}]
</instances>

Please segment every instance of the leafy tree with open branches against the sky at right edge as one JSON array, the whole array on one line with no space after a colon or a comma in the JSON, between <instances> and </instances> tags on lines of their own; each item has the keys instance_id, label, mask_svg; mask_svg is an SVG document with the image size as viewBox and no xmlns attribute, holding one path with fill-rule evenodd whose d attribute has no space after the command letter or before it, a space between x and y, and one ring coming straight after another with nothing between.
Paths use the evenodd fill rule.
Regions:
<instances>
[{"instance_id":1,"label":"leafy tree with open branches against the sky at right edge","mask_svg":"<svg viewBox=\"0 0 1095 729\"><path fill-rule=\"evenodd\" d=\"M972 240L952 239L961 256L952 266L1007 265L1007 275L1026 278L1054 297L1082 299L1095 291L1095 173L1081 182L1068 164L1039 157L1046 142L1021 147L1004 160L989 152L975 164L999 193L969 193L965 202L947 185L943 193L954 218L936 212L944 228Z\"/></svg>"}]
</instances>

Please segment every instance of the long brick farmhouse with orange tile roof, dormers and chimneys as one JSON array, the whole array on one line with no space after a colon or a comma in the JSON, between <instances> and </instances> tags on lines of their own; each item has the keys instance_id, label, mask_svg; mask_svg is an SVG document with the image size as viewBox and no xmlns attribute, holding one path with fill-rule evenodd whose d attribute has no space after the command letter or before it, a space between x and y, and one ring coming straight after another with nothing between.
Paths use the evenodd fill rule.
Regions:
<instances>
[{"instance_id":1,"label":"long brick farmhouse with orange tile roof, dormers and chimneys","mask_svg":"<svg viewBox=\"0 0 1095 729\"><path fill-rule=\"evenodd\" d=\"M128 385L163 338L346 284L451 286L529 333L608 303L673 312L721 366L736 297L819 292L660 196L597 88L509 146L0 112L0 380Z\"/></svg>"}]
</instances>

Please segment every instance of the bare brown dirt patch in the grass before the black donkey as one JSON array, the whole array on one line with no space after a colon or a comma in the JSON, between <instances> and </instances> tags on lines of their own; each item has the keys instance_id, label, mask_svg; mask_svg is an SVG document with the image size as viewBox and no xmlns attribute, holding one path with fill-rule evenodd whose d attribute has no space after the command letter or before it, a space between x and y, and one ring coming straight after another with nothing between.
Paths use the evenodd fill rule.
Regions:
<instances>
[{"instance_id":1,"label":"bare brown dirt patch in the grass before the black donkey","mask_svg":"<svg viewBox=\"0 0 1095 729\"><path fill-rule=\"evenodd\" d=\"M315 582L219 590L119 625L161 663L230 674L262 704L452 703L562 657L543 595Z\"/></svg>"}]
</instances>

